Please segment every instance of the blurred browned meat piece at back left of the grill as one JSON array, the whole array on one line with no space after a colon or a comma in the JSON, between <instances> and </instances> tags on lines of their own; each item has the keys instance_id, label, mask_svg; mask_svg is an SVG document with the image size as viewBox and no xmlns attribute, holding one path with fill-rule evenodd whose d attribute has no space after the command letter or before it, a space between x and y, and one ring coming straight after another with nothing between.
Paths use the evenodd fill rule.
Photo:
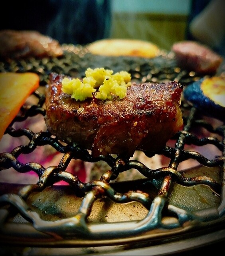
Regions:
<instances>
[{"instance_id":1,"label":"blurred browned meat piece at back left of the grill","mask_svg":"<svg viewBox=\"0 0 225 256\"><path fill-rule=\"evenodd\" d=\"M0 31L0 58L57 57L63 50L57 40L37 31Z\"/></svg>"}]
</instances>

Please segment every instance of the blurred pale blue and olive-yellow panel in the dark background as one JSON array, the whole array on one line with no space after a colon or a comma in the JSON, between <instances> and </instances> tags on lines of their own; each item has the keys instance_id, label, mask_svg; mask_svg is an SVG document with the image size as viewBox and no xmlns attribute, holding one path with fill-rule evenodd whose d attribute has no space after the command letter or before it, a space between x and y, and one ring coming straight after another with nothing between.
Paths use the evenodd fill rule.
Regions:
<instances>
[{"instance_id":1,"label":"blurred pale blue and olive-yellow panel in the dark background","mask_svg":"<svg viewBox=\"0 0 225 256\"><path fill-rule=\"evenodd\" d=\"M112 38L138 38L169 50L186 38L191 0L114 0Z\"/></svg>"}]
</instances>

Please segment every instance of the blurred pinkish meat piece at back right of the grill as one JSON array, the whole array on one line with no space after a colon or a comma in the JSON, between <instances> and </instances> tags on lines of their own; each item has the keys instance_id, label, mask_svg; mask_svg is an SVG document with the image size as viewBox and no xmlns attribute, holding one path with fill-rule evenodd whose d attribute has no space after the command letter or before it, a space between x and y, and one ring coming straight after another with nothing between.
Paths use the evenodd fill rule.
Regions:
<instances>
[{"instance_id":1,"label":"blurred pinkish meat piece at back right of the grill","mask_svg":"<svg viewBox=\"0 0 225 256\"><path fill-rule=\"evenodd\" d=\"M178 66L202 74L215 74L223 61L219 54L195 41L177 42L172 51Z\"/></svg>"}]
</instances>

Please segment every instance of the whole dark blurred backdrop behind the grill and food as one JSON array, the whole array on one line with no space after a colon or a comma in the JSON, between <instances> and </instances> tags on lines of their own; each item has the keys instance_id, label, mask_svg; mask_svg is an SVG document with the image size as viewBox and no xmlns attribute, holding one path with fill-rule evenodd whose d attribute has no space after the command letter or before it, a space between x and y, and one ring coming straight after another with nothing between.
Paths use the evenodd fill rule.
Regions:
<instances>
[{"instance_id":1,"label":"whole dark blurred backdrop behind the grill and food","mask_svg":"<svg viewBox=\"0 0 225 256\"><path fill-rule=\"evenodd\" d=\"M224 55L224 0L24 0L4 4L8 14L0 17L0 29L37 30L60 44L134 38L169 50L174 42L194 39ZM191 25L199 14L200 19Z\"/></svg>"}]
</instances>

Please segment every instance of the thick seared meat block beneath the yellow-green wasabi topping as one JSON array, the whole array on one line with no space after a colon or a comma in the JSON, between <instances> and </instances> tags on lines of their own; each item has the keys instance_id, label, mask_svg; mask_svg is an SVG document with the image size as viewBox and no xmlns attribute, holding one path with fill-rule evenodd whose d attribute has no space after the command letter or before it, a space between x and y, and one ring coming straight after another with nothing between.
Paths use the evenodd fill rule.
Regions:
<instances>
[{"instance_id":1,"label":"thick seared meat block beneath the yellow-green wasabi topping","mask_svg":"<svg viewBox=\"0 0 225 256\"><path fill-rule=\"evenodd\" d=\"M176 82L132 83L122 100L89 98L81 102L62 92L64 77L50 75L47 128L61 141L91 150L93 156L131 157L137 149L154 152L182 127L182 86Z\"/></svg>"}]
</instances>

